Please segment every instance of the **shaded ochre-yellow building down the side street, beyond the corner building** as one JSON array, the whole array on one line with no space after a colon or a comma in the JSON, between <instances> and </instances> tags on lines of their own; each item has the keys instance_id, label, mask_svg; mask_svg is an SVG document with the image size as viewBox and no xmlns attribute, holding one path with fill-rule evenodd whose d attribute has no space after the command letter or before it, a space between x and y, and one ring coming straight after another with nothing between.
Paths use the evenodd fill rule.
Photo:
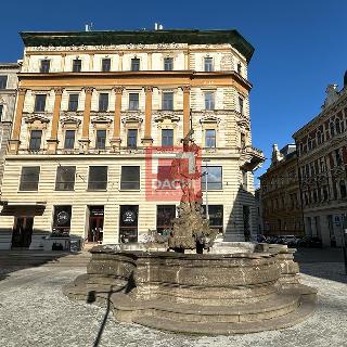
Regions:
<instances>
[{"instance_id":1,"label":"shaded ochre-yellow building down the side street, beyond the corner building","mask_svg":"<svg viewBox=\"0 0 347 347\"><path fill-rule=\"evenodd\" d=\"M303 235L297 153L295 144L273 145L271 166L260 178L265 235Z\"/></svg>"}]
</instances>

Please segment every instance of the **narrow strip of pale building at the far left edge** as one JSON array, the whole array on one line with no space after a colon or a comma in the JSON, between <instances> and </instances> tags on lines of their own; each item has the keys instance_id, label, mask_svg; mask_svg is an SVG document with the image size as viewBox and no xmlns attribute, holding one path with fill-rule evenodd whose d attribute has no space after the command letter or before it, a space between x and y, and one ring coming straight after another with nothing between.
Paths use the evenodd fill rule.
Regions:
<instances>
[{"instance_id":1,"label":"narrow strip of pale building at the far left edge","mask_svg":"<svg viewBox=\"0 0 347 347\"><path fill-rule=\"evenodd\" d=\"M11 137L20 64L0 63L0 188L4 155Z\"/></svg>"}]
</instances>

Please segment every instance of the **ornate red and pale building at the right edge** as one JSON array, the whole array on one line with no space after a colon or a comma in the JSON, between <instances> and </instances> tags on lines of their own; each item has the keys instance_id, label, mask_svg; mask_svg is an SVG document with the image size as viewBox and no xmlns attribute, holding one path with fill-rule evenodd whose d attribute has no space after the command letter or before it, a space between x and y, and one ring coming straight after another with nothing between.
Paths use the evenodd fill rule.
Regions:
<instances>
[{"instance_id":1,"label":"ornate red and pale building at the right edge","mask_svg":"<svg viewBox=\"0 0 347 347\"><path fill-rule=\"evenodd\" d=\"M342 245L347 216L347 74L345 86L326 89L321 113L293 136L298 166L305 231L324 245Z\"/></svg>"}]
</instances>

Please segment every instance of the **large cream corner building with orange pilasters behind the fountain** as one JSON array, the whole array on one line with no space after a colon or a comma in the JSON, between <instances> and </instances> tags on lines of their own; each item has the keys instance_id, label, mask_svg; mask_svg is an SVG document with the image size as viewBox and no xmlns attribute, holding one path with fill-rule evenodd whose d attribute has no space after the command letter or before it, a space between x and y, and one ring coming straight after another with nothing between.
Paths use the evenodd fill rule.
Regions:
<instances>
[{"instance_id":1,"label":"large cream corner building with orange pilasters behind the fountain","mask_svg":"<svg viewBox=\"0 0 347 347\"><path fill-rule=\"evenodd\" d=\"M210 223L226 240L256 233L253 170L264 155L250 137L254 49L236 30L22 39L0 214L10 241L1 247L12 240L37 248L52 231L90 243L136 242L170 227L179 200L146 197L145 152L181 146L191 125L209 160Z\"/></svg>"}]
</instances>

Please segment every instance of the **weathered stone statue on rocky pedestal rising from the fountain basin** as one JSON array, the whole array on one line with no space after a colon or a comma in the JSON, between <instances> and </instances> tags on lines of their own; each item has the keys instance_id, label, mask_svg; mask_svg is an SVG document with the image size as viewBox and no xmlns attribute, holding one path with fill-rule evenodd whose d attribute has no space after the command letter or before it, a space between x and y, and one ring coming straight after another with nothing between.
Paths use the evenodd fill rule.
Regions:
<instances>
[{"instance_id":1,"label":"weathered stone statue on rocky pedestal rising from the fountain basin","mask_svg":"<svg viewBox=\"0 0 347 347\"><path fill-rule=\"evenodd\" d=\"M194 143L190 130L182 140L183 152L171 164L171 175L179 180L182 197L178 207L178 217L168 239L168 247L175 252L195 249L202 254L211 247L217 231L209 228L203 211L203 193L201 187L201 168L196 165L198 146Z\"/></svg>"}]
</instances>

